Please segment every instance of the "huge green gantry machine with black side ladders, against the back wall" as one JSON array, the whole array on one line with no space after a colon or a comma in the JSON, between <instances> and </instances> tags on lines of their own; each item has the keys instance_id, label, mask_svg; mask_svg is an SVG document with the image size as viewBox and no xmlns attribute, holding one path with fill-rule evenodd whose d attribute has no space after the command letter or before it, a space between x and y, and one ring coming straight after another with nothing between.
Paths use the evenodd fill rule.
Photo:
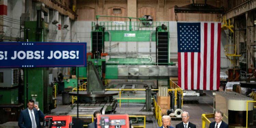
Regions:
<instances>
[{"instance_id":1,"label":"huge green gantry machine with black side ladders, against the back wall","mask_svg":"<svg viewBox=\"0 0 256 128\"><path fill-rule=\"evenodd\" d=\"M91 31L91 53L94 59L101 59L105 53L104 42L109 42L109 58L105 60L105 79L156 79L169 80L169 77L177 76L177 67L169 59L169 22L153 22L150 16L142 18L128 18L128 22L97 22L92 23ZM132 22L131 19L140 21ZM152 57L152 49L149 55L134 54L125 57L111 57L112 42L148 42L148 45L155 43L155 61ZM130 53L131 54L131 53ZM119 56L119 55L115 55Z\"/></svg>"}]
</instances>

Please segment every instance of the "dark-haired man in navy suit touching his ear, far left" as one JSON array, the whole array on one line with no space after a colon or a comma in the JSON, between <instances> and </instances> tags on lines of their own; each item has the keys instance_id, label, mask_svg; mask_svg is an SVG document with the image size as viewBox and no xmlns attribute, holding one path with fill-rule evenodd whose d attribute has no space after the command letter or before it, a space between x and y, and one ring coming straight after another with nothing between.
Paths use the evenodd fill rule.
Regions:
<instances>
[{"instance_id":1,"label":"dark-haired man in navy suit touching his ear, far left","mask_svg":"<svg viewBox=\"0 0 256 128\"><path fill-rule=\"evenodd\" d=\"M39 118L44 118L43 112L37 104L34 104L34 100L29 100L27 105L28 108L22 110L19 115L18 126L20 128L41 128Z\"/></svg>"}]
</instances>

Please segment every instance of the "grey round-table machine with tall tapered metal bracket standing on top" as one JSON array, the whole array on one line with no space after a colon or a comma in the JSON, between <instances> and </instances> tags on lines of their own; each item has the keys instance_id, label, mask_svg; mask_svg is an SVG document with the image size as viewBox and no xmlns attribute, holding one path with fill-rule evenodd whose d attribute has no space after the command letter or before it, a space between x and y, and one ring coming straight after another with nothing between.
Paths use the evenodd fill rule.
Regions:
<instances>
[{"instance_id":1,"label":"grey round-table machine with tall tapered metal bracket standing on top","mask_svg":"<svg viewBox=\"0 0 256 128\"><path fill-rule=\"evenodd\" d=\"M79 114L93 115L95 111L101 111L102 114L114 112L117 106L117 100L113 96L118 95L118 93L104 90L105 87L100 80L98 70L91 61L87 63L87 76L86 91L69 92L71 96L77 96L78 93ZM69 115L76 115L77 103L72 104L72 106L74 108Z\"/></svg>"}]
</instances>

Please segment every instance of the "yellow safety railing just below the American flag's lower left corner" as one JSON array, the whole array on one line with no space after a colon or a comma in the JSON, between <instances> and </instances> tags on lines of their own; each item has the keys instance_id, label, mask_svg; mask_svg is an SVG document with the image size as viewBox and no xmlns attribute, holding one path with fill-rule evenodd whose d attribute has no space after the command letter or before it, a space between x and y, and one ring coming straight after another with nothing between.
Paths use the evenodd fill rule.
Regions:
<instances>
[{"instance_id":1,"label":"yellow safety railing just below the American flag's lower left corner","mask_svg":"<svg viewBox=\"0 0 256 128\"><path fill-rule=\"evenodd\" d=\"M176 84L174 81L177 81L178 79L170 79L170 88L172 89L168 89L168 92L169 91L174 91L174 95L175 95L175 104L177 104L177 94L181 94L181 106L183 106L183 89L178 85Z\"/></svg>"}]
</instances>

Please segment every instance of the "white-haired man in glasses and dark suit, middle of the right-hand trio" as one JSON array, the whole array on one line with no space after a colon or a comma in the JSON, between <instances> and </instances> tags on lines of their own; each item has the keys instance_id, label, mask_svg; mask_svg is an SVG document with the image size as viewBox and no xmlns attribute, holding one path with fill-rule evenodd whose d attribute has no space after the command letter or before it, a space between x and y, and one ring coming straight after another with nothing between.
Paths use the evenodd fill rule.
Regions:
<instances>
[{"instance_id":1,"label":"white-haired man in glasses and dark suit, middle of the right-hand trio","mask_svg":"<svg viewBox=\"0 0 256 128\"><path fill-rule=\"evenodd\" d=\"M177 124L175 128L196 128L196 125L188 121L189 120L188 112L184 111L181 114L181 117L182 117L182 122L180 124Z\"/></svg>"}]
</instances>

